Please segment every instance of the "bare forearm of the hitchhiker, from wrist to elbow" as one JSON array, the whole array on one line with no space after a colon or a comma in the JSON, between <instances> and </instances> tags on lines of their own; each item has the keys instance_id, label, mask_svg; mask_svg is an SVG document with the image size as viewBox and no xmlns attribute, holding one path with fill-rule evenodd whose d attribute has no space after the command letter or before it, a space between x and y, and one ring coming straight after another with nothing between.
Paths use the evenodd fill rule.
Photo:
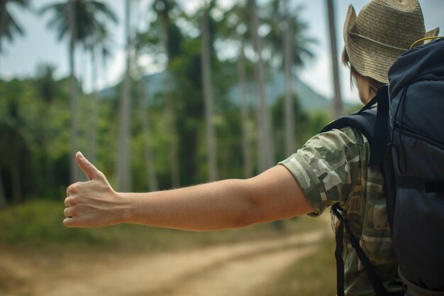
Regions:
<instances>
[{"instance_id":1,"label":"bare forearm of the hitchhiker, from wrist to elbow","mask_svg":"<svg viewBox=\"0 0 444 296\"><path fill-rule=\"evenodd\" d=\"M249 180L223 180L177 190L118 193L121 222L173 229L232 229L262 221Z\"/></svg>"}]
</instances>

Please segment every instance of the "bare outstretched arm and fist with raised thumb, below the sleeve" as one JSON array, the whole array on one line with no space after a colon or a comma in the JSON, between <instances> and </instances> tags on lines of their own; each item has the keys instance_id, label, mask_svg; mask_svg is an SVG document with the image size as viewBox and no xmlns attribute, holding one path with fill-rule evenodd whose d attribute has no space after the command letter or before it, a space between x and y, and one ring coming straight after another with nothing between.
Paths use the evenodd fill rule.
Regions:
<instances>
[{"instance_id":1,"label":"bare outstretched arm and fist with raised thumb, below the sleeve","mask_svg":"<svg viewBox=\"0 0 444 296\"><path fill-rule=\"evenodd\" d=\"M101 227L118 223L209 231L233 229L313 212L282 165L248 180L222 180L176 190L115 192L103 173L76 155L89 181L67 189L63 224Z\"/></svg>"}]
</instances>

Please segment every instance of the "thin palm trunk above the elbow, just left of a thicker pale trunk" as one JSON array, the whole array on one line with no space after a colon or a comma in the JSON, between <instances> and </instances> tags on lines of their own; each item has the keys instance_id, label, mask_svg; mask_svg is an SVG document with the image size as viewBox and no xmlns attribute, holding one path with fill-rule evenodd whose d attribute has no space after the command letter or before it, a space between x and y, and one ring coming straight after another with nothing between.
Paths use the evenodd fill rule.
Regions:
<instances>
[{"instance_id":1,"label":"thin palm trunk above the elbow, just left of a thicker pale trunk","mask_svg":"<svg viewBox=\"0 0 444 296\"><path fill-rule=\"evenodd\" d=\"M238 77L240 89L240 121L242 122L242 150L243 150L243 172L244 177L252 176L251 150L250 150L250 132L248 128L248 97L247 97L247 79L245 75L245 55L244 40L240 40Z\"/></svg>"}]
</instances>

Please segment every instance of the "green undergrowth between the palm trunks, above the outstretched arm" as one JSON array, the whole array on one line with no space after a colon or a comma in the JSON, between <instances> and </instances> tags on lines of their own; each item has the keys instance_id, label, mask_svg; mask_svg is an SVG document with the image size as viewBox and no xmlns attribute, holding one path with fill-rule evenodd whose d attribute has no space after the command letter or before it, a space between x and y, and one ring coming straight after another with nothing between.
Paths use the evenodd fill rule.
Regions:
<instances>
[{"instance_id":1,"label":"green undergrowth between the palm trunks, above the outstretched arm","mask_svg":"<svg viewBox=\"0 0 444 296\"><path fill-rule=\"evenodd\" d=\"M204 130L204 104L201 96L199 40L184 43L184 53L172 62L174 77L178 77L173 92L176 124L179 131L179 151L182 185L205 182L206 138ZM240 107L227 99L228 89L235 84L235 65L218 62L215 79L221 81L215 88L216 141L219 176L243 177L242 137ZM46 90L42 92L42 80ZM133 84L137 87L136 84ZM148 86L149 87L149 86ZM26 202L32 199L60 199L68 185L70 153L70 109L67 102L69 80L51 80L39 75L36 79L0 82L0 168L6 198L9 202ZM46 94L50 94L46 97ZM143 129L140 122L138 92L133 92L131 172L133 190L148 189L147 164L144 159ZM165 116L165 94L150 98L148 120L151 127L150 142L160 188L171 185L168 146L170 145ZM274 141L276 159L282 160L284 132L282 104L276 100L273 106ZM330 119L319 111L308 114L295 100L296 145L300 147L317 133ZM78 134L79 149L88 156L91 153L88 135L91 120L91 95L79 94ZM255 111L250 110L251 130L257 126ZM118 99L102 98L99 101L99 138L96 166L113 185L116 169L118 134ZM255 135L250 135L252 140ZM255 146L252 143L252 154ZM254 156L252 156L254 159ZM15 184L15 185L14 185Z\"/></svg>"}]
</instances>

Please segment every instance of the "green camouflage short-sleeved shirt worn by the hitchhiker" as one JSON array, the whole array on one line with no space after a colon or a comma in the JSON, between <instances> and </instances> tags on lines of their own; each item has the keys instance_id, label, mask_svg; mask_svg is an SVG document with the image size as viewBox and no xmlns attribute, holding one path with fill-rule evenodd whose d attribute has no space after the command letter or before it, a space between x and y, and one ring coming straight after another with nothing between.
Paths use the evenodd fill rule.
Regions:
<instances>
[{"instance_id":1,"label":"green camouflage short-sleeved shirt worn by the hitchhiker","mask_svg":"<svg viewBox=\"0 0 444 296\"><path fill-rule=\"evenodd\" d=\"M322 214L336 202L344 209L353 234L389 292L402 290L387 219L384 178L368 167L370 146L353 128L334 129L311 138L282 161L296 178L314 212ZM338 220L332 214L333 230ZM345 295L374 295L367 275L344 231Z\"/></svg>"}]
</instances>

